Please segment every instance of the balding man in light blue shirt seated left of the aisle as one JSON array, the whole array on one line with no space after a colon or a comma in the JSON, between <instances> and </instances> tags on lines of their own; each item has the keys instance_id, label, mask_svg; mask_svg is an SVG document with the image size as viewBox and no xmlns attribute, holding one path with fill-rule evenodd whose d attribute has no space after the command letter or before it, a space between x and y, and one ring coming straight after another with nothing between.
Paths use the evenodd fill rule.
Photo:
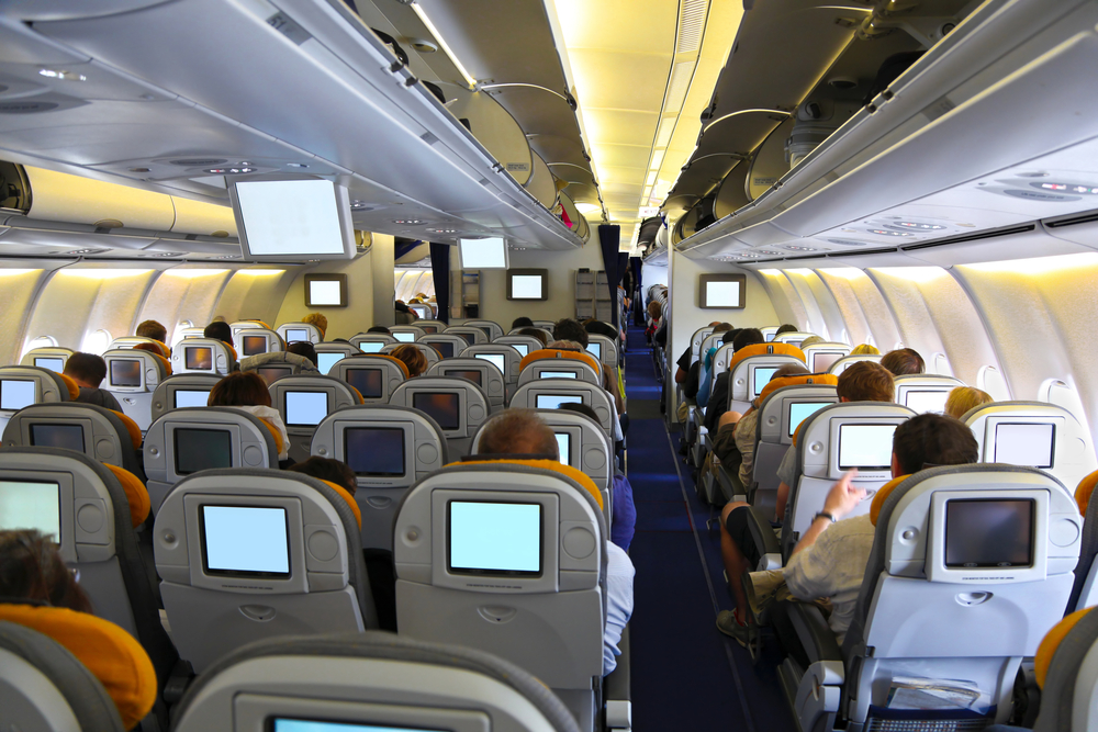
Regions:
<instances>
[{"instance_id":1,"label":"balding man in light blue shirt seated left of the aisle","mask_svg":"<svg viewBox=\"0 0 1098 732\"><path fill-rule=\"evenodd\" d=\"M492 417L481 435L484 455L545 455L558 460L557 437L534 412L506 409ZM606 542L606 630L603 634L603 676L617 666L617 644L632 615L632 578L629 555L613 541Z\"/></svg>"}]
</instances>

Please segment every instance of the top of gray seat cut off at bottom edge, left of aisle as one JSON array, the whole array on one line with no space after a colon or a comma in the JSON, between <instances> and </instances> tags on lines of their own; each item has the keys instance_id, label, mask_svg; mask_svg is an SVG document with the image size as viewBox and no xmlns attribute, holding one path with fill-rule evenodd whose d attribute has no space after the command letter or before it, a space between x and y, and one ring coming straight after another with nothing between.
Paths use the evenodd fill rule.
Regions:
<instances>
[{"instance_id":1,"label":"top of gray seat cut off at bottom edge, left of aisle","mask_svg":"<svg viewBox=\"0 0 1098 732\"><path fill-rule=\"evenodd\" d=\"M338 719L338 722L321 720ZM175 732L579 732L540 680L462 645L367 631L261 641L188 689Z\"/></svg>"}]
</instances>

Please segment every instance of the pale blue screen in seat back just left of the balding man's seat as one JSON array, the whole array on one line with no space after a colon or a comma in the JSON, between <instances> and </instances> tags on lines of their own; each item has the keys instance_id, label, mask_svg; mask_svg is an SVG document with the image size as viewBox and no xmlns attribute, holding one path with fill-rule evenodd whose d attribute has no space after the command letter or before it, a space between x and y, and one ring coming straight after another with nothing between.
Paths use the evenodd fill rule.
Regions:
<instances>
[{"instance_id":1,"label":"pale blue screen in seat back just left of the balding man's seat","mask_svg":"<svg viewBox=\"0 0 1098 732\"><path fill-rule=\"evenodd\" d=\"M222 572L290 572L285 509L202 506L206 566Z\"/></svg>"}]
</instances>

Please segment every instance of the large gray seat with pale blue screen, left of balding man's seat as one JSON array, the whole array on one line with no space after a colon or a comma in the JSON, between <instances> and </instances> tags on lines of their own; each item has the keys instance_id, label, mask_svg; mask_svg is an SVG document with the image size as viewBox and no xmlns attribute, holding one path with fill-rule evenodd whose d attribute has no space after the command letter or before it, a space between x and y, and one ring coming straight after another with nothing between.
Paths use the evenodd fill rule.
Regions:
<instances>
[{"instance_id":1,"label":"large gray seat with pale blue screen, left of balding man's seat","mask_svg":"<svg viewBox=\"0 0 1098 732\"><path fill-rule=\"evenodd\" d=\"M203 672L251 641L377 628L346 489L301 473L208 470L156 515L160 596L181 657Z\"/></svg>"}]
</instances>

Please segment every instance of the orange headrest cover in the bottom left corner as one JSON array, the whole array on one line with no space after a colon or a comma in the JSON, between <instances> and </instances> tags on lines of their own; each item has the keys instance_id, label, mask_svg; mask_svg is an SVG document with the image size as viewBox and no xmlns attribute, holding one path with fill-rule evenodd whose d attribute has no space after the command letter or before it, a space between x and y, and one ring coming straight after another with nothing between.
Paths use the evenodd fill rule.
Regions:
<instances>
[{"instance_id":1,"label":"orange headrest cover in the bottom left corner","mask_svg":"<svg viewBox=\"0 0 1098 732\"><path fill-rule=\"evenodd\" d=\"M156 701L156 672L145 649L113 622L68 608L0 605L8 620L48 635L75 655L114 700L130 730Z\"/></svg>"}]
</instances>

